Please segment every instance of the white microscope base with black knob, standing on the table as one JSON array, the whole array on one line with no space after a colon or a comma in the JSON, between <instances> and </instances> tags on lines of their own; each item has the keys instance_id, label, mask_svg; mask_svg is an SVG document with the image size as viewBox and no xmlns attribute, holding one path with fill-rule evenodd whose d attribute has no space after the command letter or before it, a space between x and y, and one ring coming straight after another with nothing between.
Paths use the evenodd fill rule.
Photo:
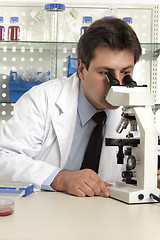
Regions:
<instances>
[{"instance_id":1,"label":"white microscope base with black knob, standing on the table","mask_svg":"<svg viewBox=\"0 0 160 240\"><path fill-rule=\"evenodd\" d=\"M151 198L150 194L153 193L158 197L160 196L160 189L158 188L141 189L125 182L116 182L115 185L108 187L108 189L111 198L128 204L156 203L157 201Z\"/></svg>"}]
</instances>

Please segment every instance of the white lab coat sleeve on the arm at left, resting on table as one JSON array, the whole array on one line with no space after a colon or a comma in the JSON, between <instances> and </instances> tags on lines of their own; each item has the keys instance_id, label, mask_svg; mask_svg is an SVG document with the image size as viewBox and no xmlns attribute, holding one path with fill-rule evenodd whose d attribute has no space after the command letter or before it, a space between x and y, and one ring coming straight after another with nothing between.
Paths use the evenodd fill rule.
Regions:
<instances>
[{"instance_id":1,"label":"white lab coat sleeve on the arm at left, resting on table","mask_svg":"<svg viewBox=\"0 0 160 240\"><path fill-rule=\"evenodd\" d=\"M46 105L43 92L36 96L34 91L24 94L15 105L14 116L0 135L0 182L31 182L40 189L57 169L36 159L43 142Z\"/></svg>"}]
</instances>

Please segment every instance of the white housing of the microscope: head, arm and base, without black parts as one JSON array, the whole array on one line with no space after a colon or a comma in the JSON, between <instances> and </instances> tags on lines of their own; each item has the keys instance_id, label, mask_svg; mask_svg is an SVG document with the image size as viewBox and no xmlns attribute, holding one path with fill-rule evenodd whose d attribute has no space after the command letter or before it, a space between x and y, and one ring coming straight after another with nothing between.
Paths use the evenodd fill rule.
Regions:
<instances>
[{"instance_id":1,"label":"white housing of the microscope: head, arm and base, without black parts","mask_svg":"<svg viewBox=\"0 0 160 240\"><path fill-rule=\"evenodd\" d=\"M131 146L136 165L128 171L136 184L116 182L109 187L110 197L129 204L155 202L150 194L160 196L157 188L158 133L148 111L154 105L154 95L147 86L111 86L106 100L113 106L123 106L124 116L134 116L140 132L139 143Z\"/></svg>"}]
</instances>

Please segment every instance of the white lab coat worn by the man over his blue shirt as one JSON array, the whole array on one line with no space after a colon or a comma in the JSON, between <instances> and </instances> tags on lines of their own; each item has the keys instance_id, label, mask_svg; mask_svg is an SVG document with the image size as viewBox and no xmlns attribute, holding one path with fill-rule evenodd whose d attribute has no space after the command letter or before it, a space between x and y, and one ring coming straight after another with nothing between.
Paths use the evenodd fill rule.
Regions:
<instances>
[{"instance_id":1,"label":"white lab coat worn by the man over his blue shirt","mask_svg":"<svg viewBox=\"0 0 160 240\"><path fill-rule=\"evenodd\" d=\"M14 116L1 129L0 182L32 182L41 188L56 168L63 169L74 135L78 91L74 74L33 87L17 101ZM120 109L111 111L105 137L122 137L115 131L120 115ZM103 144L99 176L104 181L120 178L123 166L116 163L116 151Z\"/></svg>"}]
</instances>

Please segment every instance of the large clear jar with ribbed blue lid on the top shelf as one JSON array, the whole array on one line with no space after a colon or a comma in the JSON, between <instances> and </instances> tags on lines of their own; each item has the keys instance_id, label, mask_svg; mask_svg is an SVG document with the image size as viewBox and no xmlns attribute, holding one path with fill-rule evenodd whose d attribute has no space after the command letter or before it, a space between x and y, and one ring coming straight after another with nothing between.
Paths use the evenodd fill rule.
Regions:
<instances>
[{"instance_id":1,"label":"large clear jar with ribbed blue lid on the top shelf","mask_svg":"<svg viewBox=\"0 0 160 240\"><path fill-rule=\"evenodd\" d=\"M45 21L45 32L46 32L46 39L47 41L63 41L63 26L59 26L58 19L63 20L63 12L65 10L65 5L60 3L49 3L46 4L44 7L46 11L46 21ZM61 39L58 38L58 35L61 36Z\"/></svg>"}]
</instances>

